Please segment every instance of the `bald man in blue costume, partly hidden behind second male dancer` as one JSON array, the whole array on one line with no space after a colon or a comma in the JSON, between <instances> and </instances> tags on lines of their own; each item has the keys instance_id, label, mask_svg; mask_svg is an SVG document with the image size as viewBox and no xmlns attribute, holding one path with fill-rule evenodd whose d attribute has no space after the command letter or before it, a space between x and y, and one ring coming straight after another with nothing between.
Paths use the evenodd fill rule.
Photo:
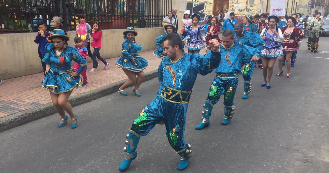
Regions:
<instances>
[{"instance_id":1,"label":"bald man in blue costume, partly hidden behind second male dancer","mask_svg":"<svg viewBox=\"0 0 329 173\"><path fill-rule=\"evenodd\" d=\"M258 50L258 53L260 53L263 49L263 46L265 44L265 41L262 39L261 36L258 35L257 32L248 32L243 28L243 24L241 22L238 22L234 25L234 37L237 39L237 41L241 41L243 45L247 45L253 48L256 48ZM244 93L242 95L242 99L247 99L248 94L251 91L251 76L254 72L255 68L255 62L247 62L247 64L244 65L243 70L243 90Z\"/></svg>"}]
</instances>

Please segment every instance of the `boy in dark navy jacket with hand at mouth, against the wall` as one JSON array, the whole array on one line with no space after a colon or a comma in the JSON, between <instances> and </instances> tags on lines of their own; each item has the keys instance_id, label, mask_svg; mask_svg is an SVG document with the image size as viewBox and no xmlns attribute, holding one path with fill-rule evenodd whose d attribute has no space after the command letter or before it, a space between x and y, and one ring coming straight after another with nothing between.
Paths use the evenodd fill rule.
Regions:
<instances>
[{"instance_id":1,"label":"boy in dark navy jacket with hand at mouth, against the wall","mask_svg":"<svg viewBox=\"0 0 329 173\"><path fill-rule=\"evenodd\" d=\"M44 48L46 47L47 43L50 43L50 40L47 39L48 36L51 35L50 32L47 31L47 25L43 22L38 23L38 35L36 36L36 38L34 39L34 42L39 44L38 46L38 54L39 54L39 58L40 60L43 59L43 56L45 54ZM43 68L43 74L44 77L46 77L46 63L41 61L41 65ZM43 82L43 80L42 80Z\"/></svg>"}]
</instances>

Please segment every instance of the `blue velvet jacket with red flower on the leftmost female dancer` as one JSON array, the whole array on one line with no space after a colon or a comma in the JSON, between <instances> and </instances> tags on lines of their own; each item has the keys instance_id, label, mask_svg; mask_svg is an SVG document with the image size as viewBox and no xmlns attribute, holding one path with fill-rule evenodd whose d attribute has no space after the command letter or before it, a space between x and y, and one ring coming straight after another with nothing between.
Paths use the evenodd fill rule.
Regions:
<instances>
[{"instance_id":1,"label":"blue velvet jacket with red flower on the leftmost female dancer","mask_svg":"<svg viewBox=\"0 0 329 173\"><path fill-rule=\"evenodd\" d=\"M72 71L71 62L72 60L77 62L80 67L76 71L81 74L82 70L86 68L87 61L82 57L79 52L70 46L67 46L61 55L57 56L54 49L54 44L49 43L45 47L45 55L42 61L46 63L46 66L50 66L50 71L53 74L58 73L59 75Z\"/></svg>"}]
</instances>

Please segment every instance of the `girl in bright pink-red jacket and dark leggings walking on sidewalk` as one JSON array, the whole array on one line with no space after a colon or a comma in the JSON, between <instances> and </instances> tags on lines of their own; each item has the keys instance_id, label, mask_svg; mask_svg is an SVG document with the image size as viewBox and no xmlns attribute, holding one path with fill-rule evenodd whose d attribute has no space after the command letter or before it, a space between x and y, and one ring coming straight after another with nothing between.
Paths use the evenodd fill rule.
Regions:
<instances>
[{"instance_id":1,"label":"girl in bright pink-red jacket and dark leggings walking on sidewalk","mask_svg":"<svg viewBox=\"0 0 329 173\"><path fill-rule=\"evenodd\" d=\"M91 46L94 48L94 54L92 55L92 62L93 62L93 65L92 65L92 69L89 70L89 72L96 72L97 70L97 67L99 65L99 63L97 62L96 60L96 57L101 60L105 66L103 68L103 70L106 70L110 64L107 63L105 61L105 59L103 57L101 57L101 55L99 54L99 50L102 48L102 31L101 29L99 28L99 24L98 24L98 21L94 22L92 24L92 32L91 32L91 35L92 35L92 43L91 43Z\"/></svg>"}]
</instances>

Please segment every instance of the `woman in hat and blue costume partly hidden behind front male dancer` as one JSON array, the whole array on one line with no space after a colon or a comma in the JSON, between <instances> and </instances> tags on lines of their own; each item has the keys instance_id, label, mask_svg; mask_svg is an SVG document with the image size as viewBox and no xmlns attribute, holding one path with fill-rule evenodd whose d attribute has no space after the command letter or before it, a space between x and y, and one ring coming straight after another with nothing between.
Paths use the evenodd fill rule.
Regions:
<instances>
[{"instance_id":1,"label":"woman in hat and blue costume partly hidden behind front male dancer","mask_svg":"<svg viewBox=\"0 0 329 173\"><path fill-rule=\"evenodd\" d=\"M176 31L176 26L173 23L168 23L167 25L164 26L165 33L163 35L160 35L156 37L156 45L157 45L157 50L153 52L153 54L161 59L166 57L167 55L164 53L164 47L161 46L161 44L164 42L164 37L169 34L169 33L175 33ZM183 40L183 36L179 34L179 36ZM183 48L184 48L184 42L183 42Z\"/></svg>"}]
</instances>

